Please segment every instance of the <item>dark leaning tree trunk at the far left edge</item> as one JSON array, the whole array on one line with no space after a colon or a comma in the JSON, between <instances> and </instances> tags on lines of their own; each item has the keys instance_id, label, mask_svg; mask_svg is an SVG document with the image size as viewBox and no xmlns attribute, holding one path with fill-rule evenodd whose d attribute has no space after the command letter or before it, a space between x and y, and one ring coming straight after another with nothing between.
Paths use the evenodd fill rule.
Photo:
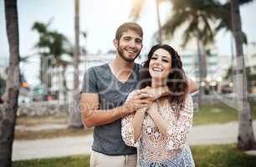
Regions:
<instances>
[{"instance_id":1,"label":"dark leaning tree trunk at the far left edge","mask_svg":"<svg viewBox=\"0 0 256 167\"><path fill-rule=\"evenodd\" d=\"M19 89L19 48L17 0L5 0L6 28L9 43L9 67L3 111L0 111L0 166L12 165L14 127L18 109Z\"/></svg>"}]
</instances>

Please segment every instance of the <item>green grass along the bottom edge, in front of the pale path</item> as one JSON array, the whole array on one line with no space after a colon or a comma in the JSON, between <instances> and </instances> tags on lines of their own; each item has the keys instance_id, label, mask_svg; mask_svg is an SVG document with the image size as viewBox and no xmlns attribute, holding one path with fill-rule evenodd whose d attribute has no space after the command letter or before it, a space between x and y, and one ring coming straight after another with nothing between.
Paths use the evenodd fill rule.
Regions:
<instances>
[{"instance_id":1,"label":"green grass along the bottom edge, in front of the pale path","mask_svg":"<svg viewBox=\"0 0 256 167\"><path fill-rule=\"evenodd\" d=\"M235 144L202 145L192 147L197 167L255 167L256 156L243 154ZM86 167L89 155L76 155L54 159L14 161L13 167Z\"/></svg>"}]
</instances>

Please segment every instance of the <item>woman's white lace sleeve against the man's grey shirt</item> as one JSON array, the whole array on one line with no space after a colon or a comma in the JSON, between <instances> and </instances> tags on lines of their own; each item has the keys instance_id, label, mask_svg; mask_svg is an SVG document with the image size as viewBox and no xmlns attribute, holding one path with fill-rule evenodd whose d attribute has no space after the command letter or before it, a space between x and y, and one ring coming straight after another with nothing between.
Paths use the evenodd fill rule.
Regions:
<instances>
[{"instance_id":1,"label":"woman's white lace sleeve against the man's grey shirt","mask_svg":"<svg viewBox=\"0 0 256 167\"><path fill-rule=\"evenodd\" d=\"M131 94L129 94L128 98L126 100L131 99L132 95L135 94L137 90L132 91ZM132 147L139 147L139 140L141 139L141 136L139 139L135 142L134 139L134 129L131 124L132 119L134 118L135 114L128 114L121 120L121 134L122 138L126 145L132 146Z\"/></svg>"}]
</instances>

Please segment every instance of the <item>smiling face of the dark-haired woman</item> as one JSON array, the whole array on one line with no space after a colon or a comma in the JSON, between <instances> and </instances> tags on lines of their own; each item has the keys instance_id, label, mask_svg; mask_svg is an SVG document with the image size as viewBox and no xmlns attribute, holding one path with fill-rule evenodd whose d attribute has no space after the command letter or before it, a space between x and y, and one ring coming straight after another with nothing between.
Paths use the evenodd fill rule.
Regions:
<instances>
[{"instance_id":1,"label":"smiling face of the dark-haired woman","mask_svg":"<svg viewBox=\"0 0 256 167\"><path fill-rule=\"evenodd\" d=\"M149 63L149 72L152 79L164 80L172 68L172 56L164 48L158 48L152 55Z\"/></svg>"}]
</instances>

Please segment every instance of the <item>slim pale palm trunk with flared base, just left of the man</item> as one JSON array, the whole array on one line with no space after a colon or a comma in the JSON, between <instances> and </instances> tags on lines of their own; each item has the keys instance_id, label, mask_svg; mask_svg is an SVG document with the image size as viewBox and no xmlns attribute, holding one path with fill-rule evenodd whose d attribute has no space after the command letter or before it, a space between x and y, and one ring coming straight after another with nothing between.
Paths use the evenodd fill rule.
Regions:
<instances>
[{"instance_id":1,"label":"slim pale palm trunk with flared base, just left of the man","mask_svg":"<svg viewBox=\"0 0 256 167\"><path fill-rule=\"evenodd\" d=\"M79 0L74 0L74 91L73 97L69 102L69 128L83 128L80 109L79 109Z\"/></svg>"}]
</instances>

